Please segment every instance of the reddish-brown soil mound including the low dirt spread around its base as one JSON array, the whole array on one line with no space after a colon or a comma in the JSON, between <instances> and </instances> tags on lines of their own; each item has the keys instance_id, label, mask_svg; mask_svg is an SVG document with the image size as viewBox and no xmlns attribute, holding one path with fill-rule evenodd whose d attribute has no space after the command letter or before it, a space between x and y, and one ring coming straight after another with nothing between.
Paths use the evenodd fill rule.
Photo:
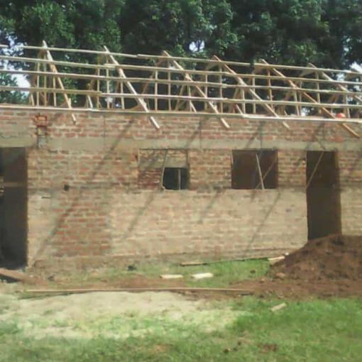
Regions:
<instances>
[{"instance_id":1,"label":"reddish-brown soil mound including the low dirt spread around its base","mask_svg":"<svg viewBox=\"0 0 362 362\"><path fill-rule=\"evenodd\" d=\"M362 297L362 236L332 235L309 241L272 266L268 278L233 287L279 297Z\"/></svg>"}]
</instances>

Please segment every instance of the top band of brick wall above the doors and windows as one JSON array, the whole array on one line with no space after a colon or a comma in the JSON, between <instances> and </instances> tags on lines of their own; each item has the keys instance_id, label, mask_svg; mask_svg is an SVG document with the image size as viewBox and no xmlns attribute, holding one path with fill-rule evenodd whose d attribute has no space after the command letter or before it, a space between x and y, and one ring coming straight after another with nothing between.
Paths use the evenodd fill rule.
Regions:
<instances>
[{"instance_id":1,"label":"top band of brick wall above the doors and windows","mask_svg":"<svg viewBox=\"0 0 362 362\"><path fill-rule=\"evenodd\" d=\"M226 130L210 116L158 117L160 130L146 116L123 114L42 113L48 119L45 129L36 127L36 111L0 111L0 147L36 145L42 139L45 148L295 148L361 150L355 136L333 122L290 122L286 129L279 121L230 119ZM350 125L361 133L362 126ZM41 128L39 130L39 128Z\"/></svg>"}]
</instances>

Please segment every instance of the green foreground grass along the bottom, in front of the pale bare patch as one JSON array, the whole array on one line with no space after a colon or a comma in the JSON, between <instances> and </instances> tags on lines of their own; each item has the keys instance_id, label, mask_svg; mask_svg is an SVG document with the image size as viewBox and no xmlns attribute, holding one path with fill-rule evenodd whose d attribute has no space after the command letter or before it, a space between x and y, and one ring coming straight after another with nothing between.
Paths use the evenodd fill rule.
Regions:
<instances>
[{"instance_id":1,"label":"green foreground grass along the bottom, in front of the pale bare patch","mask_svg":"<svg viewBox=\"0 0 362 362\"><path fill-rule=\"evenodd\" d=\"M0 361L361 361L361 300L287 302L270 312L279 302L243 297L232 302L243 314L210 333L182 322L161 328L139 319L135 323L156 327L122 340L104 337L121 319L97 325L99 336L92 339L34 339L15 323L1 323Z\"/></svg>"}]
</instances>

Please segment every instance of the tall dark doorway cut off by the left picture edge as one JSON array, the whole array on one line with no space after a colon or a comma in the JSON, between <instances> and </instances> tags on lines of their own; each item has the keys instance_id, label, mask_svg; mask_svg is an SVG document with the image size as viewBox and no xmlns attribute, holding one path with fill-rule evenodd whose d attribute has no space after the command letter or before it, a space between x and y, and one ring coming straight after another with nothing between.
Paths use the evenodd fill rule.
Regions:
<instances>
[{"instance_id":1,"label":"tall dark doorway cut off by the left picture edge","mask_svg":"<svg viewBox=\"0 0 362 362\"><path fill-rule=\"evenodd\" d=\"M0 148L0 265L26 265L26 241L26 149Z\"/></svg>"}]
</instances>

